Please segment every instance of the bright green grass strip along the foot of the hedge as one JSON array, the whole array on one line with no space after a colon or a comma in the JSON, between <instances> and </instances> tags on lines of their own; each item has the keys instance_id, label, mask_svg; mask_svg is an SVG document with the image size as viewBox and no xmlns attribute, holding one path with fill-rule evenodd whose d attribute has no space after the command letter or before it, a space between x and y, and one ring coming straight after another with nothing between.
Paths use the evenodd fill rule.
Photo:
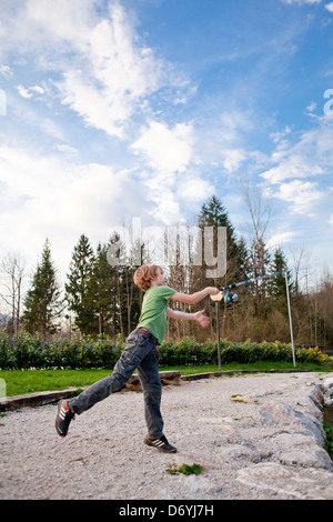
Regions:
<instances>
[{"instance_id":1,"label":"bright green grass strip along the foot of the hedge","mask_svg":"<svg viewBox=\"0 0 333 522\"><path fill-rule=\"evenodd\" d=\"M253 364L223 364L222 371L228 370L279 370L292 369L287 362L260 362ZM302 363L297 368L312 369L317 372L327 372L332 369L313 363ZM206 373L219 371L218 365L205 364L203 367L161 367L160 371L179 370L182 375L190 373ZM22 395L38 391L64 390L65 388L88 387L109 375L111 370L2 370L0 379L6 382L6 394Z\"/></svg>"}]
</instances>

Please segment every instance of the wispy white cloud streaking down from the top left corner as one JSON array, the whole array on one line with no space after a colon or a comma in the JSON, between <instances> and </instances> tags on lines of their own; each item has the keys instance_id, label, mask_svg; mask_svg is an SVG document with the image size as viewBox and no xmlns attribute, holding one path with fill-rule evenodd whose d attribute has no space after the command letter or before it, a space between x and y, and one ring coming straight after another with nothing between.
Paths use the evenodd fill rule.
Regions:
<instances>
[{"instance_id":1,"label":"wispy white cloud streaking down from the top left corner","mask_svg":"<svg viewBox=\"0 0 333 522\"><path fill-rule=\"evenodd\" d=\"M184 102L194 87L144 44L119 2L109 2L103 18L98 7L94 0L59 0L50 16L43 0L13 1L1 44L21 56L34 51L37 68L60 76L52 84L63 104L88 126L124 138L131 118L149 110L150 94L168 88L170 101ZM33 90L19 86L26 98Z\"/></svg>"}]
</instances>

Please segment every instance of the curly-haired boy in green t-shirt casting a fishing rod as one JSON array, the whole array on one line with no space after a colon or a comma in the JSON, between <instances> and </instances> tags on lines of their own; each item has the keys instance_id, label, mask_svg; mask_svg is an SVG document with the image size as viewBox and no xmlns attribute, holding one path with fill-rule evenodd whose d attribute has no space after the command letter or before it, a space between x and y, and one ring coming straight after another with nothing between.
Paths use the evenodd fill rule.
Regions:
<instances>
[{"instance_id":1,"label":"curly-haired boy in green t-shirt casting a fishing rod","mask_svg":"<svg viewBox=\"0 0 333 522\"><path fill-rule=\"evenodd\" d=\"M60 401L56 418L56 429L60 436L65 436L69 424L75 413L79 415L111 393L121 390L134 370L137 370L144 398L144 415L148 435L144 443L167 453L176 449L169 444L163 434L161 405L161 379L159 374L158 350L167 332L167 317L199 322L203 328L209 325L204 310L185 313L168 308L168 301L180 301L196 304L208 295L215 295L219 290L208 287L193 294L179 293L167 287L167 278L161 267L143 264L134 273L134 283L145 292L141 315L137 329L128 337L123 352L114 365L113 373L95 382L74 399Z\"/></svg>"}]
</instances>

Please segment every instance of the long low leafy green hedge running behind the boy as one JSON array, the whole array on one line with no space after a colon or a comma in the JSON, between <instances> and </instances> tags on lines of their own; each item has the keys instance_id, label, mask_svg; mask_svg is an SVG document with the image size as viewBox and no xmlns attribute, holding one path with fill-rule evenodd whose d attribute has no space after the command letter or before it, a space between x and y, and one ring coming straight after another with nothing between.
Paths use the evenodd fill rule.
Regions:
<instances>
[{"instance_id":1,"label":"long low leafy green hedge running behind the boy","mask_svg":"<svg viewBox=\"0 0 333 522\"><path fill-rule=\"evenodd\" d=\"M108 339L98 340L53 340L42 341L38 335L22 334L9 340L2 334L0 340L0 369L28 370L36 369L112 369L123 350L120 340L112 342ZM191 338L180 341L164 341L159 351L161 364L204 365L218 364L218 342L208 340L198 343ZM297 362L323 364L327 355L315 349L296 349ZM221 362L223 363L255 363L260 361L292 361L290 344L279 341L274 343L255 343L245 341L233 343L221 340Z\"/></svg>"}]
</instances>

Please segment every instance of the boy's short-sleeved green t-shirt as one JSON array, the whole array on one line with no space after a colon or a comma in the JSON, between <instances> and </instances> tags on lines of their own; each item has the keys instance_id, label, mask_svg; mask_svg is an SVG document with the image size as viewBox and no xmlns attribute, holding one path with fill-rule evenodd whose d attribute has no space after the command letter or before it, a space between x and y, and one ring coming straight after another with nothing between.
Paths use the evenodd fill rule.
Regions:
<instances>
[{"instance_id":1,"label":"boy's short-sleeved green t-shirt","mask_svg":"<svg viewBox=\"0 0 333 522\"><path fill-rule=\"evenodd\" d=\"M147 290L139 324L147 328L161 344L167 332L167 308L169 299L176 293L170 287L151 287Z\"/></svg>"}]
</instances>

